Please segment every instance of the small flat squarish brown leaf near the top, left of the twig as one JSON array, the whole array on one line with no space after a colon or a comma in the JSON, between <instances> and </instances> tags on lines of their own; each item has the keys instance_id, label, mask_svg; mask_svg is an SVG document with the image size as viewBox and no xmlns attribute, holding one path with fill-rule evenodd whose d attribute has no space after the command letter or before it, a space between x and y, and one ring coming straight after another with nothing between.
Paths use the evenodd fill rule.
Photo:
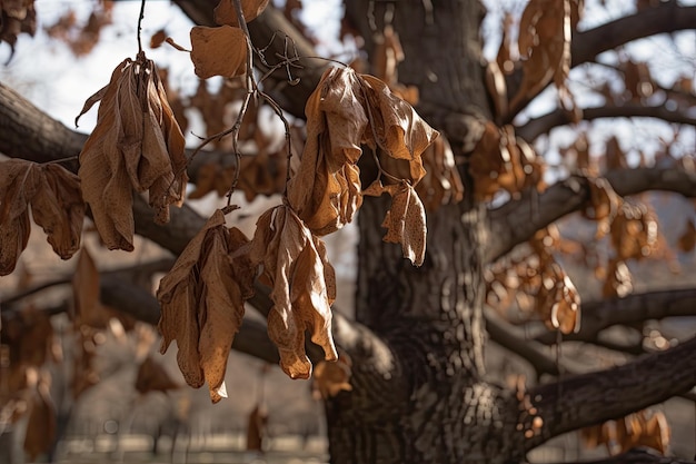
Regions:
<instances>
[{"instance_id":1,"label":"small flat squarish brown leaf near the top, left of the twig","mask_svg":"<svg viewBox=\"0 0 696 464\"><path fill-rule=\"evenodd\" d=\"M191 61L196 76L241 76L247 70L247 39L239 28L220 26L191 28Z\"/></svg>"}]
</instances>

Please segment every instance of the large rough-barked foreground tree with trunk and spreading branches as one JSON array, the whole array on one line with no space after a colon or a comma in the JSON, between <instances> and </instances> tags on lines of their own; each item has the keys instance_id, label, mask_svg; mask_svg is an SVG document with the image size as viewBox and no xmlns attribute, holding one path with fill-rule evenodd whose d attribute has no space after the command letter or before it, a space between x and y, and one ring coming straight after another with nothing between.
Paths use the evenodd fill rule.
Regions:
<instances>
[{"instance_id":1,"label":"large rough-barked foreground tree with trunk and spreading branches","mask_svg":"<svg viewBox=\"0 0 696 464\"><path fill-rule=\"evenodd\" d=\"M216 24L217 1L175 3L195 22ZM649 234L654 217L624 199L648 190L693 198L696 177L688 168L693 152L682 162L649 167L628 167L626 159L618 157L608 160L608 169L599 172L580 161L583 150L575 146L576 169L543 187L543 154L537 155L529 144L554 127L577 125L581 119L650 117L677 128L693 126L687 111L694 101L692 87L658 89L666 99L685 99L684 106L669 110L664 100L654 103L648 95L639 93L646 86L656 86L645 75L632 86L633 71L626 65L620 70L626 93L620 98L605 93L604 105L583 108L573 100L566 79L570 68L597 65L604 51L639 38L693 28L696 8L676 1L638 2L637 11L625 17L570 31L570 26L577 26L577 1L531 1L521 16L518 40L524 59L507 56L508 42L504 41L499 62L488 66L481 56L484 9L478 1L357 0L346 2L345 8L346 24L364 40L371 72L392 79L388 82L392 88L400 85L402 96L409 88L417 89L417 102L416 98L412 101L418 115L441 134L440 140L447 140L448 148L443 150L451 150L451 158L439 158L440 164L451 160L450 169L431 171L445 179L441 184L456 187L460 182L461 189L443 192L430 179L429 190L419 191L425 204L435 201L427 213L427 254L421 266L412 265L417 258L404 259L408 246L382 240L389 196L362 198L355 319L336 313L332 322L332 338L350 359L350 389L339 388L325 399L331 461L521 462L528 451L554 436L619 419L687 394L696 385L696 338L609 369L563 375L517 391L505 388L486 375L484 356L490 338L527 357L540 374L557 375L560 366L539 349L539 344L549 343L548 337L520 340L505 322L493 316L486 320L484 308L487 282L516 289L496 277L496 266L506 257L516 257L514 253L529 243L538 279L536 288L530 280L528 287L519 286L520 292L533 289L541 302L541 317L567 339L598 343L597 334L609 326L694 315L693 289L624 295L620 288L627 280L619 270L626 259L643 256L655 245ZM297 69L290 65L294 55L288 60L288 41L271 40L277 31L288 34L299 57L315 53L301 33L272 8L250 21L248 28L255 47L270 43L266 56L274 56L270 50L286 57L287 66L279 67L253 61L261 72L271 72L265 83L268 95L289 115L305 117L305 105L325 66L310 60L298 60L305 66ZM398 47L394 34L398 34ZM389 41L391 49L385 53ZM385 71L388 67L378 67L379 59L389 56L399 60L398 80L395 68ZM288 70L299 78L295 86L284 85ZM516 116L551 83L560 95L558 108L519 122ZM44 162L73 157L82 149L86 136L51 120L4 86L0 87L0 101L2 154ZM382 169L368 158L360 160L364 186ZM435 166L434 161L431 168ZM200 165L192 162L191 179L199 175L197 169ZM509 195L500 196L500 191ZM440 201L438 196L443 195L447 198ZM494 197L497 201L491 201ZM155 223L152 210L138 198L133 211L137 234L175 255L186 249L206 223L186 205L172 208L163 226ZM545 231L578 211L597 221L598 235L616 237L613 245L617 248L614 267L607 272L607 298L583 305L583 328L578 326L579 297L553 259L549 246L554 236ZM391 214L396 215L394 209ZM639 225L642 233L618 228L629 219L636 220L630 227ZM637 255L632 251L636 244ZM406 255L409 251L412 249L406 249ZM506 273L511 268L508 261ZM157 323L156 303L142 295L143 303L133 305L139 294L122 292L120 285L117 279L102 279L102 298L142 320ZM268 290L258 283L255 289L249 302L268 315L272 306ZM232 347L278 362L278 352L264 333L264 327L245 325ZM550 337L550 343L556 340L556 335ZM308 349L312 359L324 356L316 347ZM642 453L622 458L615 462L662 462L662 457Z\"/></svg>"}]
</instances>

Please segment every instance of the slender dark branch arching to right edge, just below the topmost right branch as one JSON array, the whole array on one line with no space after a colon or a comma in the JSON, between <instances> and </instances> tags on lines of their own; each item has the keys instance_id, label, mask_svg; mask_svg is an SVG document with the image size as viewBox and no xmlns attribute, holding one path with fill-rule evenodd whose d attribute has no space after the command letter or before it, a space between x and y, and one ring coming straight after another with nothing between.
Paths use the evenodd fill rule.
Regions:
<instances>
[{"instance_id":1,"label":"slender dark branch arching to right edge, just below the topmost right branch","mask_svg":"<svg viewBox=\"0 0 696 464\"><path fill-rule=\"evenodd\" d=\"M590 121L600 118L656 118L667 122L696 126L696 118L680 111L669 111L664 105L646 106L632 101L620 106L583 109L583 120ZM525 125L517 127L515 131L525 140L533 141L555 127L573 122L568 111L557 108L547 115L530 119Z\"/></svg>"}]
</instances>

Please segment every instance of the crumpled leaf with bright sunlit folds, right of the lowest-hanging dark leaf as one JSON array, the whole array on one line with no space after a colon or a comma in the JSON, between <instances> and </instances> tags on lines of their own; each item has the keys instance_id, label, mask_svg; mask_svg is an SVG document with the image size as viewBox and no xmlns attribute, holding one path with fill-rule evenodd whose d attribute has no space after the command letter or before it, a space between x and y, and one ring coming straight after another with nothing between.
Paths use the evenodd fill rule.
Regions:
<instances>
[{"instance_id":1,"label":"crumpled leaf with bright sunlit folds, right of the lowest-hanging dark leaf","mask_svg":"<svg viewBox=\"0 0 696 464\"><path fill-rule=\"evenodd\" d=\"M264 265L260 278L272 287L268 335L278 347L280 366L291 378L309 378L305 330L327 361L338 357L331 336L335 275L324 244L291 208L278 206L259 217L249 256Z\"/></svg>"}]
</instances>

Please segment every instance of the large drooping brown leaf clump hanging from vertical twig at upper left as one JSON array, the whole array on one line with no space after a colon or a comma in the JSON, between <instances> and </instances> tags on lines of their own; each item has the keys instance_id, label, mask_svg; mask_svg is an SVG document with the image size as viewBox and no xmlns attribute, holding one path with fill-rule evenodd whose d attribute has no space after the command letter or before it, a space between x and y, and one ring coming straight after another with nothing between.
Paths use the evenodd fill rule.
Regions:
<instances>
[{"instance_id":1,"label":"large drooping brown leaf clump hanging from vertical twig at upper left","mask_svg":"<svg viewBox=\"0 0 696 464\"><path fill-rule=\"evenodd\" d=\"M100 100L78 175L103 243L130 251L132 188L149 189L155 221L167 223L169 205L181 205L188 180L185 140L155 63L145 53L122 61L109 85L86 101L78 119Z\"/></svg>"}]
</instances>

